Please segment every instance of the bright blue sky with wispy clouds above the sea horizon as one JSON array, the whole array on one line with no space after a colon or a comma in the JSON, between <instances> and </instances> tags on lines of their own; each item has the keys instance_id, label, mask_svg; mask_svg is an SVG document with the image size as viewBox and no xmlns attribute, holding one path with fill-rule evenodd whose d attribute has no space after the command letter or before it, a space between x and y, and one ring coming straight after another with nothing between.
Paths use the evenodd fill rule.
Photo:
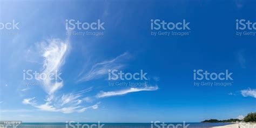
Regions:
<instances>
[{"instance_id":1,"label":"bright blue sky with wispy clouds above the sea horizon","mask_svg":"<svg viewBox=\"0 0 256 128\"><path fill-rule=\"evenodd\" d=\"M235 35L236 19L256 22L255 5L255 1L1 1L1 23L15 20L19 29L1 30L16 34L1 33L0 38L0 120L200 122L255 112L255 36ZM104 30L66 30L66 19L88 23L99 19ZM151 19L174 23L185 19L191 30L184 30L187 36L152 36ZM66 35L74 31L103 35ZM109 80L108 70L114 69L143 70L147 80ZM194 86L198 81L193 70L199 69L228 70L233 80L224 83L232 85ZM58 70L62 80L23 80L23 70ZM146 86L109 86L145 81ZM31 82L41 84L24 85Z\"/></svg>"}]
</instances>

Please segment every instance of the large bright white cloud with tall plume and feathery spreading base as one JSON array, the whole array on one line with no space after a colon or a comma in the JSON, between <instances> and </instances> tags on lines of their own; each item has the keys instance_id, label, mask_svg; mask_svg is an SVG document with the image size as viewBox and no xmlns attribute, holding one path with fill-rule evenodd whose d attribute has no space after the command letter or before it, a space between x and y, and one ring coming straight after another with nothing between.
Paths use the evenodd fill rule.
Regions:
<instances>
[{"instance_id":1,"label":"large bright white cloud with tall plume and feathery spreading base","mask_svg":"<svg viewBox=\"0 0 256 128\"><path fill-rule=\"evenodd\" d=\"M65 63L65 57L69 49L69 41L50 39L47 42L42 42L39 47L42 50L42 56L44 57L43 73L46 75L58 76L57 73L60 73L59 71ZM64 86L63 80L46 78L42 81L44 83L44 90L48 94L44 100L45 103L37 104L36 97L32 97L23 99L23 104L29 104L42 111L63 113L81 112L90 108L98 108L98 103L87 107L82 105L83 94L91 91L92 87L78 92L56 96L56 91Z\"/></svg>"}]
</instances>

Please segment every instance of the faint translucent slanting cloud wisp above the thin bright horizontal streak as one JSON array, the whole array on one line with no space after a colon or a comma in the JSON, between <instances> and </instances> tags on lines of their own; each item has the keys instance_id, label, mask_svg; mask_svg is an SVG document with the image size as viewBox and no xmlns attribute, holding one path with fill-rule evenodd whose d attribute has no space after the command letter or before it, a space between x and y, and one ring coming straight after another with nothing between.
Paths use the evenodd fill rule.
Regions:
<instances>
[{"instance_id":1,"label":"faint translucent slanting cloud wisp above the thin bright horizontal streak","mask_svg":"<svg viewBox=\"0 0 256 128\"><path fill-rule=\"evenodd\" d=\"M91 70L84 73L83 77L78 80L78 82L86 82L92 79L100 78L107 74L109 69L120 69L124 66L123 61L129 57L129 53L125 52L118 57L107 60L101 63L97 63L92 66ZM83 73L83 72L82 72Z\"/></svg>"}]
</instances>

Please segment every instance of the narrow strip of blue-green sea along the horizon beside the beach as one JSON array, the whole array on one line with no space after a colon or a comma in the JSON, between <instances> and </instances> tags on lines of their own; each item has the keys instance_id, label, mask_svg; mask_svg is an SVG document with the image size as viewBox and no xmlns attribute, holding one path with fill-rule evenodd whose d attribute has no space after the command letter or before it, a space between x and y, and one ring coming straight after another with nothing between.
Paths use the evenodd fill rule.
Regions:
<instances>
[{"instance_id":1,"label":"narrow strip of blue-green sea along the horizon beside the beach","mask_svg":"<svg viewBox=\"0 0 256 128\"><path fill-rule=\"evenodd\" d=\"M66 123L22 123L18 126L18 128L77 128L78 126L75 126L76 123L72 123L72 126L68 126ZM79 123L79 128L82 128L81 125L84 125L83 128L100 128L98 126L92 126L93 124L97 123ZM102 128L158 128L157 126L153 126L151 123L100 123L102 125ZM183 123L165 123L166 125L173 124L183 124ZM203 128L203 127L212 127L212 126L221 126L221 125L227 125L231 123L186 123L190 124L188 125L188 128ZM160 123L158 123L160 125ZM92 127L87 127L92 126ZM165 126L166 127L166 126ZM159 128L163 128L162 126ZM173 128L172 126L170 128ZM175 128L175 127L174 127ZM183 128L183 126L178 126L176 128Z\"/></svg>"}]
</instances>

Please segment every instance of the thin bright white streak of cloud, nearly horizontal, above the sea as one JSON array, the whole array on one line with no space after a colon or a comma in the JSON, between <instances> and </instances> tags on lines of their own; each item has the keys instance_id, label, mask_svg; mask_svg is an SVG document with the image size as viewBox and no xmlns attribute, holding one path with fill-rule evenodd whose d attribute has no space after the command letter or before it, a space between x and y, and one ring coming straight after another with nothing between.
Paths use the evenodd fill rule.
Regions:
<instances>
[{"instance_id":1,"label":"thin bright white streak of cloud, nearly horizontal, above the sea","mask_svg":"<svg viewBox=\"0 0 256 128\"><path fill-rule=\"evenodd\" d=\"M109 91L109 92L104 92L101 91L96 95L97 98L104 98L104 97L111 97L111 96L120 96L120 95L125 95L130 92L139 92L139 91L156 91L158 90L158 86L146 86L143 88L130 88L126 90L120 90L120 91Z\"/></svg>"}]
</instances>

